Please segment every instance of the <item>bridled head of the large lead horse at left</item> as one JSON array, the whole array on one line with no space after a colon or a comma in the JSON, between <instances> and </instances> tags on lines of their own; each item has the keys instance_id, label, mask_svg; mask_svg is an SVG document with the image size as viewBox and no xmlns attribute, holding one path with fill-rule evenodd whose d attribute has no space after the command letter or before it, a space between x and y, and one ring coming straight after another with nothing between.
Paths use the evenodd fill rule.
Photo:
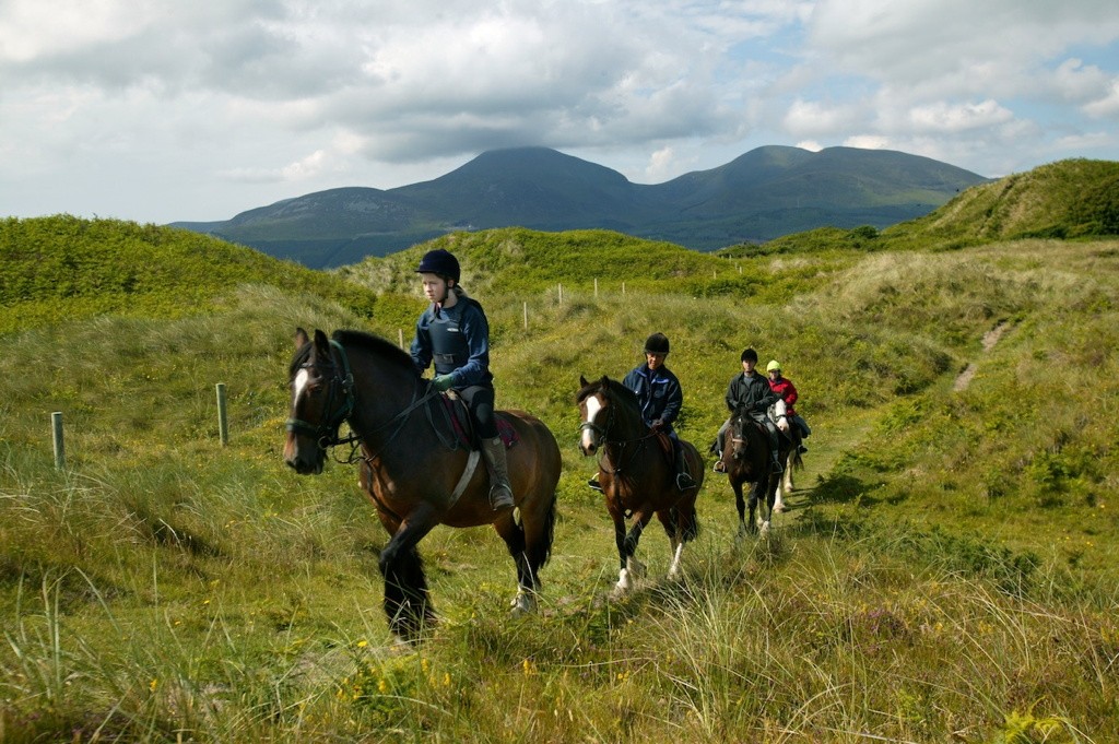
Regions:
<instances>
[{"instance_id":1,"label":"bridled head of the large lead horse at left","mask_svg":"<svg viewBox=\"0 0 1119 744\"><path fill-rule=\"evenodd\" d=\"M305 475L321 473L327 448L354 411L354 376L346 352L316 329L309 339L295 330L295 356L289 368L291 411L285 424L284 462Z\"/></svg>"}]
</instances>

